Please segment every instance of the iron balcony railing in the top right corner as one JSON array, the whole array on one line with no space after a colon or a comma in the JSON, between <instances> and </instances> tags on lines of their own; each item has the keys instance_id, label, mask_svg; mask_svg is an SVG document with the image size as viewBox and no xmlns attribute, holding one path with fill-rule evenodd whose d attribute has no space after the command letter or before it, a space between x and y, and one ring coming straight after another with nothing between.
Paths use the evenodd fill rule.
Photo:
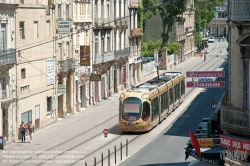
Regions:
<instances>
[{"instance_id":1,"label":"iron balcony railing in the top right corner","mask_svg":"<svg viewBox=\"0 0 250 166\"><path fill-rule=\"evenodd\" d=\"M232 21L250 20L250 2L249 0L233 0L230 4Z\"/></svg>"}]
</instances>

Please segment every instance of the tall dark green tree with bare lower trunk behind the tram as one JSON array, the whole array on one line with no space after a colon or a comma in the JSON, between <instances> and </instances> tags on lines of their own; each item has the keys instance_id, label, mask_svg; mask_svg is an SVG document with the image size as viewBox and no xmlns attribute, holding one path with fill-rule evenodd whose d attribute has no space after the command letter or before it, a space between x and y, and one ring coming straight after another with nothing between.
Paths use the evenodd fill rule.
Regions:
<instances>
[{"instance_id":1,"label":"tall dark green tree with bare lower trunk behind the tram","mask_svg":"<svg viewBox=\"0 0 250 166\"><path fill-rule=\"evenodd\" d=\"M163 0L163 3L166 3L166 5L161 6L159 11L163 26L163 45L165 45L169 39L169 32L172 31L174 23L185 21L183 13L186 11L187 0Z\"/></svg>"}]
</instances>

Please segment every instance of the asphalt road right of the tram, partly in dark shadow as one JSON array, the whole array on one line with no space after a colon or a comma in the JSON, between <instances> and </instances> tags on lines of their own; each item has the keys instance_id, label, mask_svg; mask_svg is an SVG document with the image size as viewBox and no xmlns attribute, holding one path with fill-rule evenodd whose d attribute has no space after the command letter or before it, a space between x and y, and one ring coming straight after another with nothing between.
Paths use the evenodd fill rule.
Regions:
<instances>
[{"instance_id":1,"label":"asphalt road right of the tram, partly in dark shadow","mask_svg":"<svg viewBox=\"0 0 250 166\"><path fill-rule=\"evenodd\" d=\"M209 58L227 58L227 44L220 45ZM226 75L228 66L225 66ZM227 81L228 77L220 78ZM186 143L189 140L189 129L195 131L203 117L210 117L211 100L216 103L221 99L225 89L204 89L196 99L190 103L187 110L168 126L151 143L142 148L119 166L187 166L196 159L189 157L185 161Z\"/></svg>"}]
</instances>

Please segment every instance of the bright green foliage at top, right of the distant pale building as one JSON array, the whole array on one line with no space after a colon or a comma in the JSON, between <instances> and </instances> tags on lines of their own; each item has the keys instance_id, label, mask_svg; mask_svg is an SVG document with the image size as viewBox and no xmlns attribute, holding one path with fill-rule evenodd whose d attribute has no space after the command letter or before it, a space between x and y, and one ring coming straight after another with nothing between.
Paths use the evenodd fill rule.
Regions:
<instances>
[{"instance_id":1,"label":"bright green foliage at top, right of the distant pale building","mask_svg":"<svg viewBox=\"0 0 250 166\"><path fill-rule=\"evenodd\" d=\"M212 0L208 2L200 2L194 0L195 6L195 27L196 32L205 28L215 17L215 7L221 6L226 0Z\"/></svg>"}]
</instances>

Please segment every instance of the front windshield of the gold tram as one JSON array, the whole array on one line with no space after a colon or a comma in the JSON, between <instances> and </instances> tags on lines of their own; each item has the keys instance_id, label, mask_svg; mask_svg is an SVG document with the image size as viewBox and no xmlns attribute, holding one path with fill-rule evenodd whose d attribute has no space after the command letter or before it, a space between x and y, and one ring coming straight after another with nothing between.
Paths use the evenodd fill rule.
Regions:
<instances>
[{"instance_id":1,"label":"front windshield of the gold tram","mask_svg":"<svg viewBox=\"0 0 250 166\"><path fill-rule=\"evenodd\" d=\"M124 100L122 118L127 121L135 121L140 118L142 102L137 97L129 97Z\"/></svg>"}]
</instances>

